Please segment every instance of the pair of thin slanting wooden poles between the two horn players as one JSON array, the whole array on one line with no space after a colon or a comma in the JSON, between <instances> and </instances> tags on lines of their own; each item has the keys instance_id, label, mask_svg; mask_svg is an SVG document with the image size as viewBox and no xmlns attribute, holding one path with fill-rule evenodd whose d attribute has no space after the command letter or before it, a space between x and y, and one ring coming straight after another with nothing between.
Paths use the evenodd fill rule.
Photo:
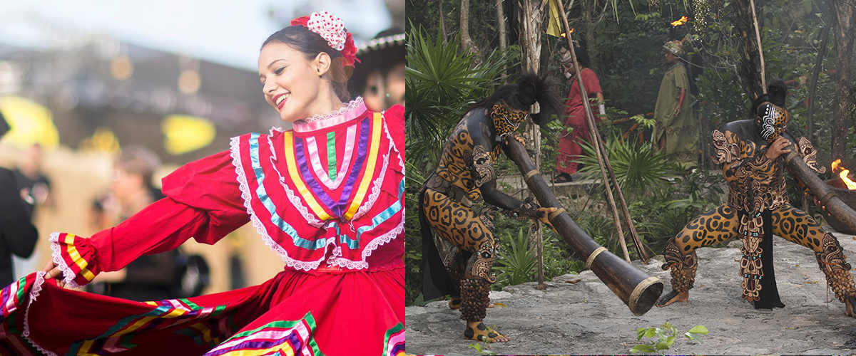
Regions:
<instances>
[{"instance_id":1,"label":"pair of thin slanting wooden poles between the two horn players","mask_svg":"<svg viewBox=\"0 0 856 356\"><path fill-rule=\"evenodd\" d=\"M565 40L568 41L568 48L571 50L571 59L574 62L574 72L577 73L577 84L580 85L580 95L583 96L583 109L586 113L586 121L588 121L589 125L589 133L591 134L591 143L595 146L595 152L597 153L597 163L600 165L600 172L603 178L603 185L606 188L606 197L607 201L609 201L609 207L612 209L613 219L615 219L615 227L618 232L619 242L621 242L621 250L624 253L624 259L627 262L630 261L630 256L627 253L627 242L624 239L624 232L621 229L621 220L618 217L618 208L615 207L615 198L612 196L612 190L609 189L609 181L606 177L606 172L609 171L609 178L611 178L612 184L615 185L615 193L618 195L619 201L621 202L621 208L624 213L624 219L627 223L627 229L630 231L630 236L633 238L633 244L636 245L637 251L639 251L639 258L642 262L647 263L649 258L648 254L645 253L645 248L642 246L642 241L639 239L639 234L636 232L636 227L633 225L633 219L630 218L630 211L627 209L627 201L624 200L624 194L621 192L621 185L618 184L618 180L615 178L615 172L612 170L612 165L609 164L609 157L606 155L606 149L603 147L603 141L600 137L600 131L597 130L597 123L594 120L594 114L591 113L591 106L588 102L588 96L586 96L586 86L583 84L582 75L580 73L580 64L577 63L577 55L574 50L574 42L571 41L571 30L570 26L568 26L568 17L565 15L565 9L562 5L561 0L556 0L556 4L559 8L559 17L562 19L562 26L564 28Z\"/></svg>"}]
</instances>

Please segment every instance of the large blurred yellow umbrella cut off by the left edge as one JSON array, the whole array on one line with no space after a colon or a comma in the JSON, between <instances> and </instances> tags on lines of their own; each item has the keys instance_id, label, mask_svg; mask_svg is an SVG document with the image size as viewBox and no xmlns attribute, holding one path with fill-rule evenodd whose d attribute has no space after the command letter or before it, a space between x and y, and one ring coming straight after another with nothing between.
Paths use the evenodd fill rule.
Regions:
<instances>
[{"instance_id":1,"label":"large blurred yellow umbrella cut off by the left edge","mask_svg":"<svg viewBox=\"0 0 856 356\"><path fill-rule=\"evenodd\" d=\"M3 143L21 148L39 143L45 149L54 149L59 144L53 114L38 102L21 96L0 96L0 112L12 127L3 137Z\"/></svg>"}]
</instances>

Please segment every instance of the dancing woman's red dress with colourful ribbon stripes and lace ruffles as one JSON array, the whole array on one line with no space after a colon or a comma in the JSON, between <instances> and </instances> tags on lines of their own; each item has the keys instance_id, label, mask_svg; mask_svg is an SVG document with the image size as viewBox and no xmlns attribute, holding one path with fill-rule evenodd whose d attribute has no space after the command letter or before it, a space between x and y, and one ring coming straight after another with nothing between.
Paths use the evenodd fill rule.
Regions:
<instances>
[{"instance_id":1,"label":"dancing woman's red dress with colourful ribbon stripes and lace ruffles","mask_svg":"<svg viewBox=\"0 0 856 356\"><path fill-rule=\"evenodd\" d=\"M0 354L403 353L403 114L369 112L358 98L293 130L233 137L229 151L163 178L167 198L121 225L53 234L71 287L250 221L285 268L259 286L147 302L33 273L0 295Z\"/></svg>"}]
</instances>

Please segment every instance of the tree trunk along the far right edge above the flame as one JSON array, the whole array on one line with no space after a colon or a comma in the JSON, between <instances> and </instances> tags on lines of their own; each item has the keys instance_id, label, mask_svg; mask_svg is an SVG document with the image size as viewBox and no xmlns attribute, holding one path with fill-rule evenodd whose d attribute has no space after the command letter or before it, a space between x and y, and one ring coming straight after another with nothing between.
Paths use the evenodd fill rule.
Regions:
<instances>
[{"instance_id":1,"label":"tree trunk along the far right edge above the flame","mask_svg":"<svg viewBox=\"0 0 856 356\"><path fill-rule=\"evenodd\" d=\"M847 132L851 120L847 120L850 106L850 59L853 56L853 0L834 0L829 3L833 12L835 32L835 104L832 107L830 125L835 131ZM845 160L847 135L832 136L832 160Z\"/></svg>"}]
</instances>

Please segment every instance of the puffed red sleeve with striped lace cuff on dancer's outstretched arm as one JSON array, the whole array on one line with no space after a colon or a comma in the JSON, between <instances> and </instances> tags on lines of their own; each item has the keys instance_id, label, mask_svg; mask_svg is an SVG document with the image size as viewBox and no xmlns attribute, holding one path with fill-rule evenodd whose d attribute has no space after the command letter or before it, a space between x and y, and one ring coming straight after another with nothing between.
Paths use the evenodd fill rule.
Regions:
<instances>
[{"instance_id":1,"label":"puffed red sleeve with striped lace cuff on dancer's outstretched arm","mask_svg":"<svg viewBox=\"0 0 856 356\"><path fill-rule=\"evenodd\" d=\"M142 254L177 248L193 237L213 244L247 224L229 152L181 166L163 178L166 198L91 238L66 233L51 236L54 262L72 288L100 271L117 271Z\"/></svg>"}]
</instances>

